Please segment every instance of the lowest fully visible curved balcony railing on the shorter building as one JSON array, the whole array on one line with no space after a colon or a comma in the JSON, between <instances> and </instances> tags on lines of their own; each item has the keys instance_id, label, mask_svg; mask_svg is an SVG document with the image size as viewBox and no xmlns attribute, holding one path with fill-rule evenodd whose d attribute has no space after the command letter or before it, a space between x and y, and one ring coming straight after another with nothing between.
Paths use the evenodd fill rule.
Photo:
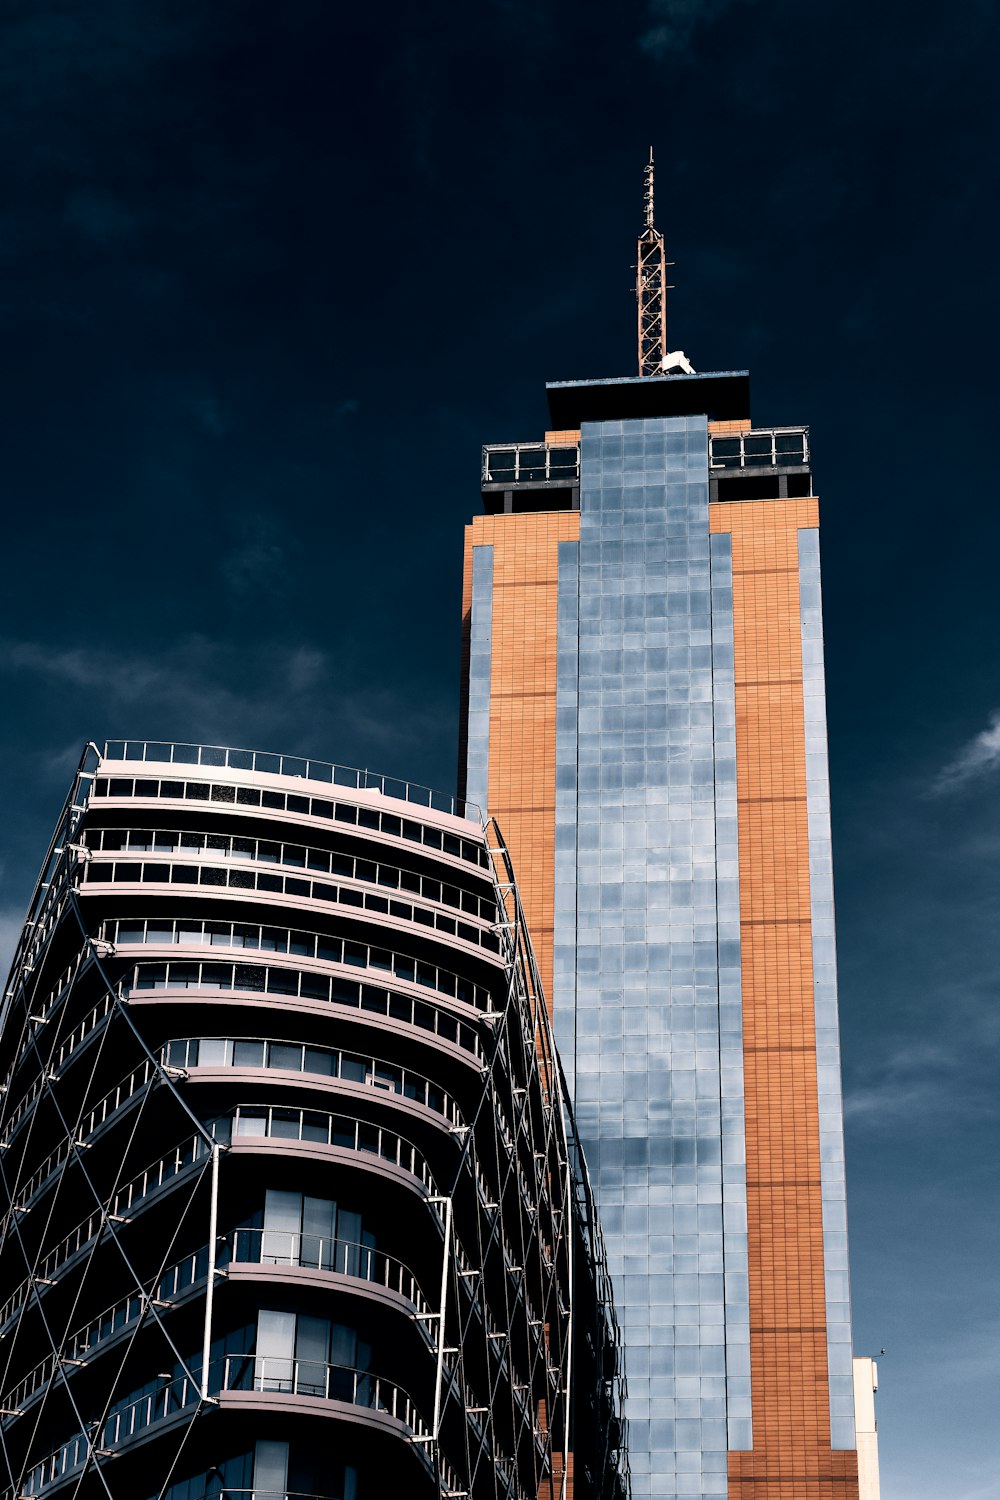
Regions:
<instances>
[{"instance_id":1,"label":"lowest fully visible curved balcony railing on the shorter building","mask_svg":"<svg viewBox=\"0 0 1000 1500\"><path fill-rule=\"evenodd\" d=\"M258 1390L261 1394L337 1401L391 1416L412 1440L424 1443L430 1440L429 1426L403 1388L381 1376L373 1376L369 1370L324 1365L309 1359L228 1354L208 1365L208 1390L213 1395L226 1390ZM181 1376L165 1383L159 1390L127 1402L112 1412L100 1426L87 1434L78 1434L42 1460L27 1474L21 1494L43 1494L49 1485L67 1479L82 1468L91 1454L102 1456L117 1452L133 1437L166 1422L180 1412L196 1407L201 1400L199 1382Z\"/></svg>"}]
</instances>

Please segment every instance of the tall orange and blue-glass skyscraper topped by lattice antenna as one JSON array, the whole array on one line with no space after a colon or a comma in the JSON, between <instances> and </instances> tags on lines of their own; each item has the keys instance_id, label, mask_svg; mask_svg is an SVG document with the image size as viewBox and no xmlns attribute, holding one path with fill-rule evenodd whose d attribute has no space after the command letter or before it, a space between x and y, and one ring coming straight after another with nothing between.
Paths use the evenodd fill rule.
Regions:
<instances>
[{"instance_id":1,"label":"tall orange and blue-glass skyscraper topped by lattice antenna","mask_svg":"<svg viewBox=\"0 0 1000 1500\"><path fill-rule=\"evenodd\" d=\"M808 429L670 352L483 453L460 783L520 874L604 1226L639 1497L856 1500Z\"/></svg>"}]
</instances>

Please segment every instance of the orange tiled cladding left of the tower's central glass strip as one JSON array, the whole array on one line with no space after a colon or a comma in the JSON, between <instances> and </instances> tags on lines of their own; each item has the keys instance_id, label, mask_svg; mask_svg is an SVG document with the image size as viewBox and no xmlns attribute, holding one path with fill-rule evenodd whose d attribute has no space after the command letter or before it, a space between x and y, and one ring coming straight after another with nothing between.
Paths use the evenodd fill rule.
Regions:
<instances>
[{"instance_id":1,"label":"orange tiled cladding left of the tower's central glass strip","mask_svg":"<svg viewBox=\"0 0 1000 1500\"><path fill-rule=\"evenodd\" d=\"M528 932L552 1014L556 842L556 603L559 543L580 540L577 512L477 516L472 548L493 548L489 812L514 860Z\"/></svg>"}]
</instances>

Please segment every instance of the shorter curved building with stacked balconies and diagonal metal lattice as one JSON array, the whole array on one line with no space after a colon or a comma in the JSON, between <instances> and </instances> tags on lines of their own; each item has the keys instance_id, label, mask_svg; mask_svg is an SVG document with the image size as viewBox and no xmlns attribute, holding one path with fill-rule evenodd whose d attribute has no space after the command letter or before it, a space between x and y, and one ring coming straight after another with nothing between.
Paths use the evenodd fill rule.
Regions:
<instances>
[{"instance_id":1,"label":"shorter curved building with stacked balconies and diagonal metal lattice","mask_svg":"<svg viewBox=\"0 0 1000 1500\"><path fill-rule=\"evenodd\" d=\"M477 812L90 746L0 1084L3 1500L627 1492L600 1230Z\"/></svg>"}]
</instances>

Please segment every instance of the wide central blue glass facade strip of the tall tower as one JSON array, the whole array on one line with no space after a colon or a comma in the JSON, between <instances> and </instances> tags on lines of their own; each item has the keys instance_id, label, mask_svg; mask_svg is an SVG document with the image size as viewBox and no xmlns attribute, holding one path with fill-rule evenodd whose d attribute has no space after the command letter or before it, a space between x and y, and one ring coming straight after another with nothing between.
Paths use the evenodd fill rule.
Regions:
<instances>
[{"instance_id":1,"label":"wide central blue glass facade strip of the tall tower","mask_svg":"<svg viewBox=\"0 0 1000 1500\"><path fill-rule=\"evenodd\" d=\"M750 1448L732 558L705 417L585 423L559 548L556 1041L622 1323L636 1497Z\"/></svg>"}]
</instances>

